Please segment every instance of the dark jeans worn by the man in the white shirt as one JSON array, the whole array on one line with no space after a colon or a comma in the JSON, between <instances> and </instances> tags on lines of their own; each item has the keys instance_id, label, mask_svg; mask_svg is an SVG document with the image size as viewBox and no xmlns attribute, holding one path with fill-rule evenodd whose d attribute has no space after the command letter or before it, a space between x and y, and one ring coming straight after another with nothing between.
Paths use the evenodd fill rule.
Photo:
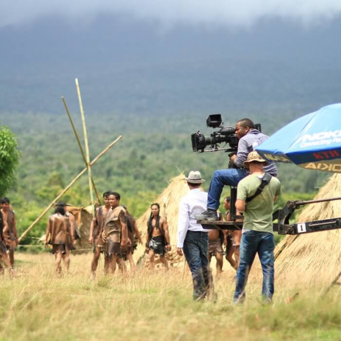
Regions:
<instances>
[{"instance_id":1,"label":"dark jeans worn by the man in the white shirt","mask_svg":"<svg viewBox=\"0 0 341 341\"><path fill-rule=\"evenodd\" d=\"M213 291L213 278L208 261L208 233L187 231L184 255L192 273L193 300L204 299Z\"/></svg>"}]
</instances>

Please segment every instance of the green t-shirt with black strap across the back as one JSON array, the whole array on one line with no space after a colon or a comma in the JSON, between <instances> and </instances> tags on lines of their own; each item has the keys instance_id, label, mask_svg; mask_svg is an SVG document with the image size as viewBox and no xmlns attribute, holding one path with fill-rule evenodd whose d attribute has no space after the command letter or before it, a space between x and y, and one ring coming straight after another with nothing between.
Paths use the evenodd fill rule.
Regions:
<instances>
[{"instance_id":1,"label":"green t-shirt with black strap across the back","mask_svg":"<svg viewBox=\"0 0 341 341\"><path fill-rule=\"evenodd\" d=\"M263 175L248 175L238 183L237 199L244 200L255 194L262 182ZM272 231L273 199L275 195L281 194L281 183L276 177L272 177L263 191L253 200L245 203L244 230L255 230L260 232Z\"/></svg>"}]
</instances>

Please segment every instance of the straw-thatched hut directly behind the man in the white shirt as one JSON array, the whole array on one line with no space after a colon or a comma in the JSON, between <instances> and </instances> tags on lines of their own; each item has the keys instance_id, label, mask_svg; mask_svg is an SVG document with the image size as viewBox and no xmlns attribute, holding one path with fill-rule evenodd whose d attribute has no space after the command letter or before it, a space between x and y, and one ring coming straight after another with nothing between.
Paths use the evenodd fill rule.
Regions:
<instances>
[{"instance_id":1,"label":"straw-thatched hut directly behind the man in the white shirt","mask_svg":"<svg viewBox=\"0 0 341 341\"><path fill-rule=\"evenodd\" d=\"M170 244L174 250L176 247L177 225L179 204L182 197L189 191L185 181L185 175L181 173L170 180L168 187L155 199L155 203L160 205L160 215L166 216L170 232ZM151 209L147 209L142 216L137 219L137 227L141 231L143 245L139 245L134 252L134 259L138 261L145 251L147 237L147 222L151 214Z\"/></svg>"}]
</instances>

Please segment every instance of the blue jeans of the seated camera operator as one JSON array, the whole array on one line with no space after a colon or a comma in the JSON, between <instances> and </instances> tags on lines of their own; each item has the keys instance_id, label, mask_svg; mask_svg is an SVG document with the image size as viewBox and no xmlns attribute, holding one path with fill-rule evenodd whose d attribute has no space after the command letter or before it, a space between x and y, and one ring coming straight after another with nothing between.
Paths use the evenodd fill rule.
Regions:
<instances>
[{"instance_id":1,"label":"blue jeans of the seated camera operator","mask_svg":"<svg viewBox=\"0 0 341 341\"><path fill-rule=\"evenodd\" d=\"M224 186L238 185L238 182L246 177L245 170L229 168L227 170L216 170L208 189L207 208L217 210L220 205L220 195Z\"/></svg>"}]
</instances>

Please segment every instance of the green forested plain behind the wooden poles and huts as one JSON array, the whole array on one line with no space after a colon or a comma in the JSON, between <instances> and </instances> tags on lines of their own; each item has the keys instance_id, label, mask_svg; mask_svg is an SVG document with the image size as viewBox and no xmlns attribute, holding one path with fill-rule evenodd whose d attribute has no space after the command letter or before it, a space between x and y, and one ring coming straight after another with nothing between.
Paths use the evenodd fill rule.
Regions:
<instances>
[{"instance_id":1,"label":"green forested plain behind the wooden poles and huts","mask_svg":"<svg viewBox=\"0 0 341 341\"><path fill-rule=\"evenodd\" d=\"M75 112L73 117L82 135L80 115ZM237 118L229 116L229 123ZM266 116L252 118L262 123ZM135 216L147 209L156 195L167 187L170 178L179 172L200 170L208 180L204 185L208 189L212 172L227 167L227 154L224 152L194 153L191 150L190 133L198 129L207 134L212 132L205 127L206 117L203 115L139 117L132 114L96 114L87 115L86 119L91 159L118 135L123 135L123 139L94 165L93 176L100 193L108 189L120 192L122 203ZM63 112L58 115L4 115L2 123L17 134L21 151L17 185L8 196L16 209L19 229L23 230L84 168L84 163ZM263 131L270 134L280 126L272 125ZM328 175L302 170L294 165L279 165L279 177L284 188L281 203L289 197L311 197ZM228 194L228 189L225 192ZM89 204L86 175L66 193L63 200L74 205ZM43 233L46 219L47 216L31 236Z\"/></svg>"}]
</instances>

